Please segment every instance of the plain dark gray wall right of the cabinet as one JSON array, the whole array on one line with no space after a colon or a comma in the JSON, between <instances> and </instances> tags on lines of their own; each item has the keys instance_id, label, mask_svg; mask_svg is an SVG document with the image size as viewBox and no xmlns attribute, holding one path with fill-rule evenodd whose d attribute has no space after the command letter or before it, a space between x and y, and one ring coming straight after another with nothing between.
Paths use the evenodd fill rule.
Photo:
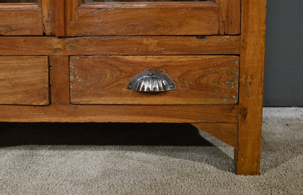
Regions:
<instances>
[{"instance_id":1,"label":"plain dark gray wall right of the cabinet","mask_svg":"<svg viewBox=\"0 0 303 195\"><path fill-rule=\"evenodd\" d=\"M303 106L303 1L267 0L264 106Z\"/></svg>"}]
</instances>

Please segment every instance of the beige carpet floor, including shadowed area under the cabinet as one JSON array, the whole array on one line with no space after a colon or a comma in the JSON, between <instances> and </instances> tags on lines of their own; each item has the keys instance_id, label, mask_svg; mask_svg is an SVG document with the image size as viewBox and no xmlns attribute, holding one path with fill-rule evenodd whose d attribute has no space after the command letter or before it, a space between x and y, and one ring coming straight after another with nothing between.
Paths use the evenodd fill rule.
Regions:
<instances>
[{"instance_id":1,"label":"beige carpet floor, including shadowed area under the cabinet","mask_svg":"<svg viewBox=\"0 0 303 195\"><path fill-rule=\"evenodd\" d=\"M303 194L303 108L263 121L260 176L187 124L0 123L0 194Z\"/></svg>"}]
</instances>

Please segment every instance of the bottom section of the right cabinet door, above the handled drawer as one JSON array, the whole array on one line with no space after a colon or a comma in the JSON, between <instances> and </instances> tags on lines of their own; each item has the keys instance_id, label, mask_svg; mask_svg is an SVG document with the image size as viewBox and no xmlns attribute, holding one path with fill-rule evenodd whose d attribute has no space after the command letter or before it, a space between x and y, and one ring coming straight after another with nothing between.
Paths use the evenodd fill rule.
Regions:
<instances>
[{"instance_id":1,"label":"bottom section of the right cabinet door, above the handled drawer","mask_svg":"<svg viewBox=\"0 0 303 195\"><path fill-rule=\"evenodd\" d=\"M66 0L58 36L239 34L240 0L86 2Z\"/></svg>"}]
</instances>

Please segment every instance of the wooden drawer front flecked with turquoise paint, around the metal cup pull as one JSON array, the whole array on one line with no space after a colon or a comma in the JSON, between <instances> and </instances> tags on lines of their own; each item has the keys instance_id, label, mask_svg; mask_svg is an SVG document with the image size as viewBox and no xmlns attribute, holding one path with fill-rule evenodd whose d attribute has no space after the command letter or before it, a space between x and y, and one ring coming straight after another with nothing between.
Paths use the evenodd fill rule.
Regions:
<instances>
[{"instance_id":1,"label":"wooden drawer front flecked with turquoise paint, around the metal cup pull","mask_svg":"<svg viewBox=\"0 0 303 195\"><path fill-rule=\"evenodd\" d=\"M144 71L164 73L177 89L127 89L133 77ZM238 79L237 56L70 57L72 104L237 104Z\"/></svg>"}]
</instances>

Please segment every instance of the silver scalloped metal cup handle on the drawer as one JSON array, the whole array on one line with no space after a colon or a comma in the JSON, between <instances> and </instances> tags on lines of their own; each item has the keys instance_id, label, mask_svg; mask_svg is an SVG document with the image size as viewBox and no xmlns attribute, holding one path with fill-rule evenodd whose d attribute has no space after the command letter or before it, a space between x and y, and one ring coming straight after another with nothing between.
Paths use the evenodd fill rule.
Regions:
<instances>
[{"instance_id":1,"label":"silver scalloped metal cup handle on the drawer","mask_svg":"<svg viewBox=\"0 0 303 195\"><path fill-rule=\"evenodd\" d=\"M177 87L167 75L150 70L137 74L131 79L127 89L141 92L161 92L174 90Z\"/></svg>"}]
</instances>

